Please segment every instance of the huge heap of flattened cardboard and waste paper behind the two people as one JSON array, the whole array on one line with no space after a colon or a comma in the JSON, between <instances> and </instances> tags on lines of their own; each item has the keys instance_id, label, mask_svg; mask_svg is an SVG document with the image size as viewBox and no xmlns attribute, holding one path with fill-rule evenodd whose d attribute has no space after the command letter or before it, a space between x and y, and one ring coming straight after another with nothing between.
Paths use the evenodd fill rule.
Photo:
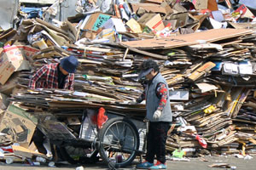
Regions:
<instances>
[{"instance_id":1,"label":"huge heap of flattened cardboard and waste paper behind the two people","mask_svg":"<svg viewBox=\"0 0 256 170\"><path fill-rule=\"evenodd\" d=\"M0 31L0 127L2 133L8 133L5 130L12 124L19 128L10 130L15 134L6 137L5 144L19 143L32 150L28 144L37 124L42 126L38 121L65 129L51 132L52 138L79 138L77 128L69 125L83 127L84 109L104 107L143 120L145 105L128 102L142 94L138 67L152 58L169 85L174 129L179 132L170 129L169 152L182 149L195 154L202 149L197 134L212 153L255 152L256 34L245 29L254 27L253 8L229 0L115 1L109 8L79 2L84 14L57 25L24 19L18 29ZM70 54L80 63L74 91L27 89L42 65ZM24 114L27 126L26 121L15 122L15 116ZM55 119L45 118L49 115ZM27 138L18 140L17 132L27 129Z\"/></svg>"}]
</instances>

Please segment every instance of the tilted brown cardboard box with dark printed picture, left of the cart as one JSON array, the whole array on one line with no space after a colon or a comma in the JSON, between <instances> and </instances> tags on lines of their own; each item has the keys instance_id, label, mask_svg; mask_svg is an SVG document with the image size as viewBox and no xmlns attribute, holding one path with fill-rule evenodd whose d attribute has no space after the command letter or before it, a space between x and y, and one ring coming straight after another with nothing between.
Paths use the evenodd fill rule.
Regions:
<instances>
[{"instance_id":1,"label":"tilted brown cardboard box with dark printed picture, left of the cart","mask_svg":"<svg viewBox=\"0 0 256 170\"><path fill-rule=\"evenodd\" d=\"M1 123L0 132L7 133L19 144L29 144L38 119L15 105L9 105Z\"/></svg>"}]
</instances>

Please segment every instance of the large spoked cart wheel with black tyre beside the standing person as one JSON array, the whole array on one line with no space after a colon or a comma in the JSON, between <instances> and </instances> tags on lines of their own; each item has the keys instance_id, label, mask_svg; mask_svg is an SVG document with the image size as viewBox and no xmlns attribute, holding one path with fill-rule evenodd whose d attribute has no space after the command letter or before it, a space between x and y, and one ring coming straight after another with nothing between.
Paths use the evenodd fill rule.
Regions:
<instances>
[{"instance_id":1,"label":"large spoked cart wheel with black tyre beside the standing person","mask_svg":"<svg viewBox=\"0 0 256 170\"><path fill-rule=\"evenodd\" d=\"M137 127L125 117L108 120L99 132L99 140L99 153L109 167L130 165L139 147Z\"/></svg>"}]
</instances>

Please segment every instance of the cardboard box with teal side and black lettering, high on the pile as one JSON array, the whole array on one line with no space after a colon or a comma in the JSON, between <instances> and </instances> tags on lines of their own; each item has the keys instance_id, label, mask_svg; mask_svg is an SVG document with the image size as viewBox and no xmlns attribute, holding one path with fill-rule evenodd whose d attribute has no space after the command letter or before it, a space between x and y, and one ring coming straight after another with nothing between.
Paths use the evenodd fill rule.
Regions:
<instances>
[{"instance_id":1,"label":"cardboard box with teal side and black lettering, high on the pile","mask_svg":"<svg viewBox=\"0 0 256 170\"><path fill-rule=\"evenodd\" d=\"M112 16L109 14L95 13L87 15L84 20L84 30L97 31L102 27L106 21L108 21Z\"/></svg>"}]
</instances>

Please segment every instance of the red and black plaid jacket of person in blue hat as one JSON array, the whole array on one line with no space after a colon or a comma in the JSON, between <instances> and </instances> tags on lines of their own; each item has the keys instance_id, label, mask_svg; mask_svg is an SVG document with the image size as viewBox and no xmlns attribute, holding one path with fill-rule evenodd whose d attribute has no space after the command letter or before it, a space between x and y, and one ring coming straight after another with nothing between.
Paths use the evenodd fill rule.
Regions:
<instances>
[{"instance_id":1,"label":"red and black plaid jacket of person in blue hat","mask_svg":"<svg viewBox=\"0 0 256 170\"><path fill-rule=\"evenodd\" d=\"M74 74L67 75L64 88L73 90ZM44 65L31 78L29 88L58 88L58 63Z\"/></svg>"}]
</instances>

